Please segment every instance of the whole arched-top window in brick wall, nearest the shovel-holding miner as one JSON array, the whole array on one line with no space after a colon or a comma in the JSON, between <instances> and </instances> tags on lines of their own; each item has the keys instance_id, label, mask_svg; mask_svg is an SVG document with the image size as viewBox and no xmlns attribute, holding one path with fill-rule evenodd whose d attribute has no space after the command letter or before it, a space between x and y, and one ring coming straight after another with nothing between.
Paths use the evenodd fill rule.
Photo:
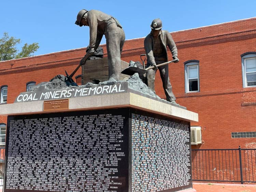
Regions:
<instances>
[{"instance_id":1,"label":"whole arched-top window in brick wall, nearest the shovel-holding miner","mask_svg":"<svg viewBox=\"0 0 256 192\"><path fill-rule=\"evenodd\" d=\"M199 61L189 60L185 63L185 92L199 92Z\"/></svg>"}]
</instances>

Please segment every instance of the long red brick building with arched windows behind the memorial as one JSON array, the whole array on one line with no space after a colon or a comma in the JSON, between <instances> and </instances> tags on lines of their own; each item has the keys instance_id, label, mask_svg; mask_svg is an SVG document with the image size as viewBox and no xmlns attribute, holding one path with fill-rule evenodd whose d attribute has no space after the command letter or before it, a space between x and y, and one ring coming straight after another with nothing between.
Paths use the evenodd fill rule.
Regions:
<instances>
[{"instance_id":1,"label":"long red brick building with arched windows behind the memorial","mask_svg":"<svg viewBox=\"0 0 256 192\"><path fill-rule=\"evenodd\" d=\"M176 102L199 114L191 126L201 128L202 144L192 148L256 148L256 17L171 34L180 59L169 65ZM127 40L122 60L140 61L143 41ZM80 48L0 62L1 104L13 103L27 85L71 73L84 54ZM155 84L165 98L159 72ZM5 123L0 116L3 139Z\"/></svg>"}]
</instances>

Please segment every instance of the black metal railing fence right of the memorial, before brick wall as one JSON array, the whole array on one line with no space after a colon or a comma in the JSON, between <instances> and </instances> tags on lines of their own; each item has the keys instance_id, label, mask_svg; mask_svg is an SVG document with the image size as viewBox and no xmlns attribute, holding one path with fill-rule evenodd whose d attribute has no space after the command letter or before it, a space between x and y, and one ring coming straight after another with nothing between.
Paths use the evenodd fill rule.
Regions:
<instances>
[{"instance_id":1,"label":"black metal railing fence right of the memorial, before brick wall","mask_svg":"<svg viewBox=\"0 0 256 192\"><path fill-rule=\"evenodd\" d=\"M256 149L191 149L194 181L255 182Z\"/></svg>"}]
</instances>

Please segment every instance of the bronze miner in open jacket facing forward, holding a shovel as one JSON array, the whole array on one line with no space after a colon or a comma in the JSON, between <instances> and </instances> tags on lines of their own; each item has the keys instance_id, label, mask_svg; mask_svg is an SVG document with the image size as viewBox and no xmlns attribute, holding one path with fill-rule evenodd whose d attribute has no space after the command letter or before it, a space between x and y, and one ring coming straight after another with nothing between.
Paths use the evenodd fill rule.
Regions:
<instances>
[{"instance_id":1,"label":"bronze miner in open jacket facing forward, holding a shovel","mask_svg":"<svg viewBox=\"0 0 256 192\"><path fill-rule=\"evenodd\" d=\"M174 62L179 62L177 57L177 47L172 39L171 34L168 31L161 30L162 21L160 19L154 19L150 27L151 32L146 36L144 40L144 48L147 55L147 67L152 65L154 66L154 69L149 69L147 71L147 85L152 91L155 92L156 70L159 69L163 83L163 89L165 90L166 94L166 100L176 104L176 98L172 92L172 86L169 79L168 65L163 65L159 68L157 68L156 65L168 61L167 46L171 50L173 59L176 60Z\"/></svg>"}]
</instances>

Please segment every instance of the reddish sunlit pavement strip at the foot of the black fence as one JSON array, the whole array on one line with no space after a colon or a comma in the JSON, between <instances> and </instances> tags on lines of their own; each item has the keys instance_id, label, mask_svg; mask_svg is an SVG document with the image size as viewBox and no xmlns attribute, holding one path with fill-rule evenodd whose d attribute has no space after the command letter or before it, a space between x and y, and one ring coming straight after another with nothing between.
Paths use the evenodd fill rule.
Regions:
<instances>
[{"instance_id":1,"label":"reddish sunlit pavement strip at the foot of the black fence","mask_svg":"<svg viewBox=\"0 0 256 192\"><path fill-rule=\"evenodd\" d=\"M228 183L195 183L193 189L197 192L256 192L256 184L228 184Z\"/></svg>"}]
</instances>

